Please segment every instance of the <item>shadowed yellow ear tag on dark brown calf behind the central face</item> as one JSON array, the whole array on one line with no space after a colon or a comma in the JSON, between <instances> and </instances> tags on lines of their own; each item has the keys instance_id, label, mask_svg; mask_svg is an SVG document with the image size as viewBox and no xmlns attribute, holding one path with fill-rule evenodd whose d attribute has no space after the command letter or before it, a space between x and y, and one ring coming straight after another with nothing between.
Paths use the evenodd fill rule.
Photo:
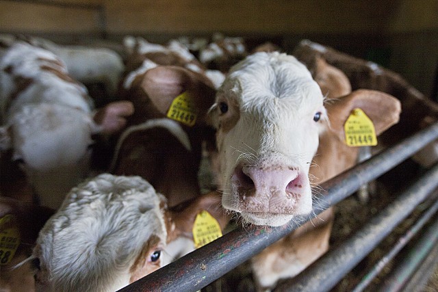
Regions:
<instances>
[{"instance_id":1,"label":"shadowed yellow ear tag on dark brown calf behind the central face","mask_svg":"<svg viewBox=\"0 0 438 292\"><path fill-rule=\"evenodd\" d=\"M189 127L193 127L197 116L198 111L196 110L194 100L186 91L179 94L179 96L172 101L167 112L168 118L182 122Z\"/></svg>"}]
</instances>

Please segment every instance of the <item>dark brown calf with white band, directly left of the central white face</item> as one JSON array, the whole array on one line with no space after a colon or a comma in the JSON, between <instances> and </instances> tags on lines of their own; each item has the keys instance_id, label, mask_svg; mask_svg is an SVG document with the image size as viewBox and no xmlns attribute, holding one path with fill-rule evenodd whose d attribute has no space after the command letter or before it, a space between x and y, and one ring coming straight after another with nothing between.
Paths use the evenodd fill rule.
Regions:
<instances>
[{"instance_id":1,"label":"dark brown calf with white band, directly left of the central white face","mask_svg":"<svg viewBox=\"0 0 438 292\"><path fill-rule=\"evenodd\" d=\"M214 137L207 111L216 90L209 78L185 68L182 61L182 66L168 66L149 59L157 55L173 58L163 52L145 53L143 65L125 77L122 96L135 111L120 135L110 172L142 176L172 207L201 194L197 174L203 142ZM170 107L181 94L190 103L190 109L181 111L190 114L190 123L179 119L179 114L172 116L175 108Z\"/></svg>"}]
</instances>

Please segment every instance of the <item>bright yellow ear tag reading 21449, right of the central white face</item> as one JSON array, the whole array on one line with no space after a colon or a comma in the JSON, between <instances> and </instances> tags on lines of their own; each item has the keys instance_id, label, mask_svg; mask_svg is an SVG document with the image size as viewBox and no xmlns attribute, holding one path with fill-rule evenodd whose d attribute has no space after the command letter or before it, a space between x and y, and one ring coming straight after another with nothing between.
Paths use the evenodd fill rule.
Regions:
<instances>
[{"instance_id":1,"label":"bright yellow ear tag reading 21449, right of the central white face","mask_svg":"<svg viewBox=\"0 0 438 292\"><path fill-rule=\"evenodd\" d=\"M372 120L362 109L353 109L344 124L345 141L348 146L376 146L377 136Z\"/></svg>"}]
</instances>

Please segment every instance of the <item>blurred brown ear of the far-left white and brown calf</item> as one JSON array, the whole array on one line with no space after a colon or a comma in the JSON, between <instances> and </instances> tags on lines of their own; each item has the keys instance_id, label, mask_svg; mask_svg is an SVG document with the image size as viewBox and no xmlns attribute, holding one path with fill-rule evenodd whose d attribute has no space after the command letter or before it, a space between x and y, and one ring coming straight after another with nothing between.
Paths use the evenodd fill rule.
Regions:
<instances>
[{"instance_id":1,"label":"blurred brown ear of the far-left white and brown calf","mask_svg":"<svg viewBox=\"0 0 438 292\"><path fill-rule=\"evenodd\" d=\"M134 112L133 104L130 101L116 101L98 109L93 116L97 125L94 132L113 134L125 128L126 118Z\"/></svg>"}]
</instances>

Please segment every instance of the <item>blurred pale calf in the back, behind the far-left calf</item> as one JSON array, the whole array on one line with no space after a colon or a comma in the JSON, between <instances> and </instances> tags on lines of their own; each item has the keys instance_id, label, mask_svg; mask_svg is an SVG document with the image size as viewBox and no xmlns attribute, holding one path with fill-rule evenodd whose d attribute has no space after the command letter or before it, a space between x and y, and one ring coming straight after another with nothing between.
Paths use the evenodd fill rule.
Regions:
<instances>
[{"instance_id":1,"label":"blurred pale calf in the back, behind the far-left calf","mask_svg":"<svg viewBox=\"0 0 438 292\"><path fill-rule=\"evenodd\" d=\"M66 64L73 79L86 85L101 83L111 98L116 95L125 65L122 57L112 49L60 45L34 36L25 37L25 41L57 55Z\"/></svg>"}]
</instances>

